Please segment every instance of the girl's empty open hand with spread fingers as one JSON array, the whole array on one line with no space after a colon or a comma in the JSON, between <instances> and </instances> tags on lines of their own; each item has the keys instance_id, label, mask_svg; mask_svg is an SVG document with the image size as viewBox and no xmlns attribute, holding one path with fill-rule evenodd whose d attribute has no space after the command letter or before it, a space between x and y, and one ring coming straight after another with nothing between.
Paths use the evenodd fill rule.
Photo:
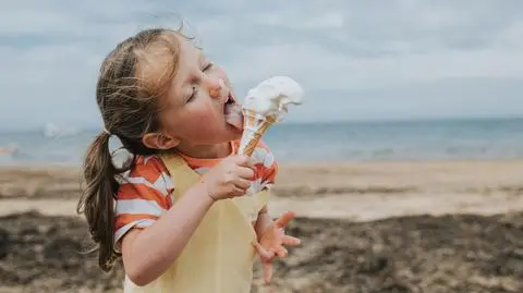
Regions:
<instances>
[{"instance_id":1,"label":"girl's empty open hand with spread fingers","mask_svg":"<svg viewBox=\"0 0 523 293\"><path fill-rule=\"evenodd\" d=\"M289 252L283 245L295 246L300 244L300 240L293 236L285 235L284 228L294 219L294 212L285 212L272 224L267 227L265 231L258 236L258 242L254 243L256 251L259 254L259 259L264 265L264 278L266 283L270 283L272 277L272 261L276 256L283 258Z\"/></svg>"}]
</instances>

